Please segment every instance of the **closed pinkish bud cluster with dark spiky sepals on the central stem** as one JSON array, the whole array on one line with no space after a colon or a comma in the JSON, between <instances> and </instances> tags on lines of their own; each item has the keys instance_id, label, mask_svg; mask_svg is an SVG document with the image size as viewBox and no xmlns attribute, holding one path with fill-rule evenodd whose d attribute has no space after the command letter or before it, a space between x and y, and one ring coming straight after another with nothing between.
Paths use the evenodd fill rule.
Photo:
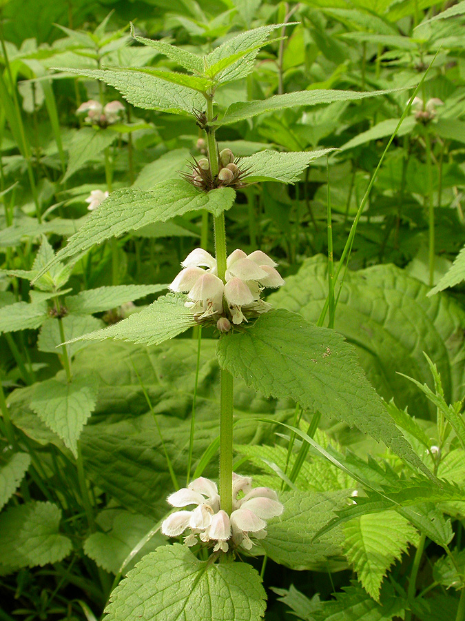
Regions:
<instances>
[{"instance_id":1,"label":"closed pinkish bud cluster with dark spiky sepals on the central stem","mask_svg":"<svg viewBox=\"0 0 465 621\"><path fill-rule=\"evenodd\" d=\"M247 175L247 169L240 168L240 157L234 158L231 149L223 149L218 154L218 175L211 175L210 163L206 157L202 157L191 165L191 172L185 173L184 178L200 190L213 190L229 186L235 188L245 187L243 182Z\"/></svg>"}]
</instances>

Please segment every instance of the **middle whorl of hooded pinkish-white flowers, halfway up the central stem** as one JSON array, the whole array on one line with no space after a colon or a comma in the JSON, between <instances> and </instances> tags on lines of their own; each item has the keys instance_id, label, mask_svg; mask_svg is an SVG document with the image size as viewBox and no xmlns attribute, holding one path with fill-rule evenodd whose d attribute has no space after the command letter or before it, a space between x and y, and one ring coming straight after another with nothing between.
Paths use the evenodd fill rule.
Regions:
<instances>
[{"instance_id":1,"label":"middle whorl of hooded pinkish-white flowers, halfway up the central stem","mask_svg":"<svg viewBox=\"0 0 465 621\"><path fill-rule=\"evenodd\" d=\"M265 287L280 287L284 280L276 271L276 263L261 250L246 255L238 248L227 257L225 283L218 278L216 259L207 250L192 250L181 264L183 270L169 288L187 293L190 308L198 322L216 321L220 332L227 332L233 324L247 322L271 308L260 299ZM206 268L206 269L204 269Z\"/></svg>"}]
</instances>

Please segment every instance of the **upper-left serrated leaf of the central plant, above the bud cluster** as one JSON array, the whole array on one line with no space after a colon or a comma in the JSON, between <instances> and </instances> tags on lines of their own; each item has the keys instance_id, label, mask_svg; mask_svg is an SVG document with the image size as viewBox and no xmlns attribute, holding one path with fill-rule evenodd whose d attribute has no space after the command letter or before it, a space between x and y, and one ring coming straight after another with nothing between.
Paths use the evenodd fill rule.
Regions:
<instances>
[{"instance_id":1,"label":"upper-left serrated leaf of the central plant, above the bud cluster","mask_svg":"<svg viewBox=\"0 0 465 621\"><path fill-rule=\"evenodd\" d=\"M205 107L205 97L200 93L148 73L109 69L63 69L63 71L110 84L137 108L163 110L174 115L193 115L195 109L202 110Z\"/></svg>"}]
</instances>

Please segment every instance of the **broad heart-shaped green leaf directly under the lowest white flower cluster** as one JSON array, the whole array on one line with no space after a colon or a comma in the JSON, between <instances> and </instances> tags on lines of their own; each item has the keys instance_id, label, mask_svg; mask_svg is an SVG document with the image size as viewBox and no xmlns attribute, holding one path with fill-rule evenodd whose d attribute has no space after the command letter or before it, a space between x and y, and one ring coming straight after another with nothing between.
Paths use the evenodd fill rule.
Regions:
<instances>
[{"instance_id":1,"label":"broad heart-shaped green leaf directly under the lowest white flower cluster","mask_svg":"<svg viewBox=\"0 0 465 621\"><path fill-rule=\"evenodd\" d=\"M247 563L200 561L185 546L147 554L110 597L108 621L258 621L265 590Z\"/></svg>"}]
</instances>

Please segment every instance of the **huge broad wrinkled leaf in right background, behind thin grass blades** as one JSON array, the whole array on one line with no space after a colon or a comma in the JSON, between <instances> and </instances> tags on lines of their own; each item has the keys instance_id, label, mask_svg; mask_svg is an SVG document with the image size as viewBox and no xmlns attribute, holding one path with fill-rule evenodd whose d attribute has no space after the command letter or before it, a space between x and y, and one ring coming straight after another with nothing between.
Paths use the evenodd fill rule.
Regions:
<instances>
[{"instance_id":1,"label":"huge broad wrinkled leaf in right background, behind thin grass blades","mask_svg":"<svg viewBox=\"0 0 465 621\"><path fill-rule=\"evenodd\" d=\"M393 265L347 270L335 312L335 329L355 346L376 391L417 418L435 417L436 408L397 371L431 377L423 352L437 365L446 402L462 399L465 384L464 310L446 295L428 299L428 290ZM313 257L268 301L316 323L327 295L327 259Z\"/></svg>"}]
</instances>

